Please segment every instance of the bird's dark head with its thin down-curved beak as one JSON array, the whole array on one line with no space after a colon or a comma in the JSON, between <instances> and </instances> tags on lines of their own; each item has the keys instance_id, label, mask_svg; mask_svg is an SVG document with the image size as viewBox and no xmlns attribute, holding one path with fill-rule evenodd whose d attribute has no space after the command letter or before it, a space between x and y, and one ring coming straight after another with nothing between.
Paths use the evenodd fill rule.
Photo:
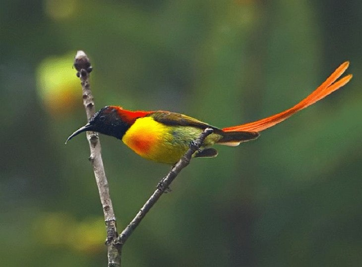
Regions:
<instances>
[{"instance_id":1,"label":"bird's dark head with its thin down-curved beak","mask_svg":"<svg viewBox=\"0 0 362 267\"><path fill-rule=\"evenodd\" d=\"M99 132L121 140L129 127L130 125L121 119L116 108L107 106L94 114L86 125L72 133L65 143L85 131Z\"/></svg>"}]
</instances>

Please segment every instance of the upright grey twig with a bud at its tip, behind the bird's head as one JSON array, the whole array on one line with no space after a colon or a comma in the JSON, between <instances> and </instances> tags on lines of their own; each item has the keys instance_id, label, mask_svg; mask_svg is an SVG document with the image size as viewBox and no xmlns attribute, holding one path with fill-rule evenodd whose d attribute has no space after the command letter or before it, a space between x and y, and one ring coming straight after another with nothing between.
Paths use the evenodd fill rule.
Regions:
<instances>
[{"instance_id":1,"label":"upright grey twig with a bud at its tip, behind the bird's head","mask_svg":"<svg viewBox=\"0 0 362 267\"><path fill-rule=\"evenodd\" d=\"M74 58L74 67L78 71L77 77L80 78L82 85L83 105L87 113L88 121L93 117L94 101L92 92L90 90L89 74L92 71L92 66L88 56L83 51L78 51ZM90 148L89 160L92 163L94 176L96 178L99 196L102 203L104 219L106 222L108 246L108 267L121 266L121 247L112 241L117 237L116 217L113 211L112 201L109 194L109 186L104 171L103 160L101 155L101 143L97 133L87 132L87 139Z\"/></svg>"}]
</instances>

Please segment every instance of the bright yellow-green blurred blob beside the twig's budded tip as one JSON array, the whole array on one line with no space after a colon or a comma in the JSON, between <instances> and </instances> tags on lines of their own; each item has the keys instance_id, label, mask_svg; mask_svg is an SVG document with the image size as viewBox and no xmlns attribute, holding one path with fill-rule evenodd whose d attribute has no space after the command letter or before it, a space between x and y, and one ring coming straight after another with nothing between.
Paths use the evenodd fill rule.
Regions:
<instances>
[{"instance_id":1,"label":"bright yellow-green blurred blob beside the twig's budded tip","mask_svg":"<svg viewBox=\"0 0 362 267\"><path fill-rule=\"evenodd\" d=\"M45 109L53 115L67 113L79 102L81 87L72 68L75 53L45 58L36 71L37 91ZM81 103L81 102L79 102Z\"/></svg>"}]
</instances>

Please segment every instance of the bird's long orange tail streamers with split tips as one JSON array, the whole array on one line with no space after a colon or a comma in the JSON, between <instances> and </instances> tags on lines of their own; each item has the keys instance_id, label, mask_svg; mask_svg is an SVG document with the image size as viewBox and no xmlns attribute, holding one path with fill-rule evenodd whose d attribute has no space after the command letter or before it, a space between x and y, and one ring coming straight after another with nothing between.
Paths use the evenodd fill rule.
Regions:
<instances>
[{"instance_id":1,"label":"bird's long orange tail streamers with split tips","mask_svg":"<svg viewBox=\"0 0 362 267\"><path fill-rule=\"evenodd\" d=\"M347 84L351 78L352 74L349 74L342 79L335 82L348 68L348 65L350 62L346 61L343 64L341 64L317 89L314 90L309 96L307 96L305 99L303 99L300 103L298 103L296 106L291 107L283 112L280 112L278 114L272 115L270 117L260 119L257 121L249 122L242 125L237 126L231 126L223 128L222 130L225 132L231 132L231 131L256 131L260 132L263 131L269 127L274 126L275 124L282 122L286 118L289 118L294 113L298 112L299 110L308 107L315 102L325 98L332 92L338 90L345 84Z\"/></svg>"}]
</instances>

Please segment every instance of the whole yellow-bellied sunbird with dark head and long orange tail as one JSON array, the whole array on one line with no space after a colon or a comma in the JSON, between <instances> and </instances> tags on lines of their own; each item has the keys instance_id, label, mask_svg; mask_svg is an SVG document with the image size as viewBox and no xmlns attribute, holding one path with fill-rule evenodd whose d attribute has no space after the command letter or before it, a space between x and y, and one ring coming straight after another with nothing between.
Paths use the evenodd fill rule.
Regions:
<instances>
[{"instance_id":1,"label":"whole yellow-bellied sunbird with dark head and long orange tail","mask_svg":"<svg viewBox=\"0 0 362 267\"><path fill-rule=\"evenodd\" d=\"M254 140L259 132L292 116L299 110L323 99L347 84L352 74L336 81L348 68L349 62L341 64L314 92L296 106L270 117L226 128L217 128L195 118L170 111L131 111L117 106L100 109L90 121L71 134L66 142L85 131L94 131L114 136L139 156L161 163L175 164L205 128L212 128L202 147L193 157L216 157L218 152L210 146L214 144L238 146L242 142ZM66 143L65 142L65 143Z\"/></svg>"}]
</instances>

